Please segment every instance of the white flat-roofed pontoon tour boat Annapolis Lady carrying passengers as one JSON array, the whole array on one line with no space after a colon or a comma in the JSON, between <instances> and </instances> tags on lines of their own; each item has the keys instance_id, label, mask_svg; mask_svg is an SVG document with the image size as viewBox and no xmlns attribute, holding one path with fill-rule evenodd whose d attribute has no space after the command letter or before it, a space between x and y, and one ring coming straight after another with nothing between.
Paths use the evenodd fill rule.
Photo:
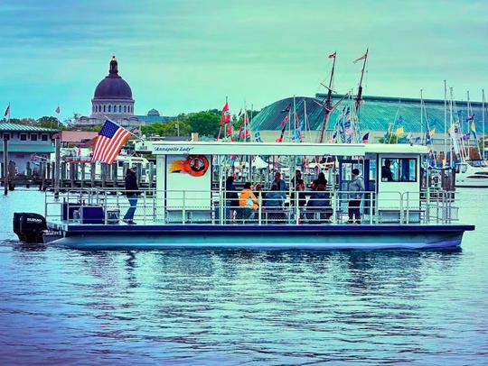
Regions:
<instances>
[{"instance_id":1,"label":"white flat-roofed pontoon tour boat Annapolis Lady carrying passengers","mask_svg":"<svg viewBox=\"0 0 488 366\"><path fill-rule=\"evenodd\" d=\"M136 150L156 157L156 187L139 195L137 224L121 222L128 202L126 192L115 188L73 189L59 200L47 192L47 227L59 237L52 244L113 249L428 249L458 246L463 233L474 230L456 222L452 193L437 191L434 196L426 186L424 146L139 142ZM326 187L297 190L296 172L279 188L273 181L253 181L265 188L254 192L255 202L238 205L225 188L232 174L229 161L250 155L286 157L290 172L307 156L328 156L335 163L327 171ZM276 170L271 164L267 169L267 177ZM364 182L361 190L352 190L356 169ZM236 187L253 180L252 172L251 165ZM304 183L308 187L311 182ZM236 188L238 196L241 192ZM270 205L277 195L273 199L279 205Z\"/></svg>"}]
</instances>

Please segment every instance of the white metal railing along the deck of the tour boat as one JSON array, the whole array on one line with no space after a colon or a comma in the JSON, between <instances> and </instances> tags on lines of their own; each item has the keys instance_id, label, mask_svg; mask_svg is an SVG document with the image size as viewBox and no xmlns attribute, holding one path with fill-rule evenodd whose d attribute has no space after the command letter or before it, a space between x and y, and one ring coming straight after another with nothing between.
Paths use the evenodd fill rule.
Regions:
<instances>
[{"instance_id":1,"label":"white metal railing along the deck of the tour boat","mask_svg":"<svg viewBox=\"0 0 488 366\"><path fill-rule=\"evenodd\" d=\"M258 191L74 188L46 192L45 216L65 224L118 224L137 194L137 224L450 224L452 192ZM235 194L235 195L234 195ZM360 211L360 219L353 215ZM357 213L357 211L356 211Z\"/></svg>"}]
</instances>

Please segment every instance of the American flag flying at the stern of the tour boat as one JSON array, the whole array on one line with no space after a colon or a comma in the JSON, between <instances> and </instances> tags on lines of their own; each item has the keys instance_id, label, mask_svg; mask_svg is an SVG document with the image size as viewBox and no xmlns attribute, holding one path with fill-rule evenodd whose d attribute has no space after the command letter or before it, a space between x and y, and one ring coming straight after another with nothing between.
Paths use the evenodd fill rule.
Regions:
<instances>
[{"instance_id":1,"label":"American flag flying at the stern of the tour boat","mask_svg":"<svg viewBox=\"0 0 488 366\"><path fill-rule=\"evenodd\" d=\"M97 136L92 160L113 163L129 136L130 133L125 128L106 120Z\"/></svg>"}]
</instances>

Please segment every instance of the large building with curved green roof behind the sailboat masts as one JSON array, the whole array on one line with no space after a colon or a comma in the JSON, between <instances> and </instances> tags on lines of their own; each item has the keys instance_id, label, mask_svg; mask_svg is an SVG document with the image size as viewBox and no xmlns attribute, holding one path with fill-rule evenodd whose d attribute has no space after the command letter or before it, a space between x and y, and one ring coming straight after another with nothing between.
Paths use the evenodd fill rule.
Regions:
<instances>
[{"instance_id":1,"label":"large building with curved green roof behind the sailboat masts","mask_svg":"<svg viewBox=\"0 0 488 366\"><path fill-rule=\"evenodd\" d=\"M315 97L296 96L295 98L289 97L267 105L252 119L250 128L253 132L259 132L262 141L276 141L281 134L282 128L280 124L286 117L288 105L292 112L295 105L299 120L298 124L304 120L306 110L306 126L308 131L302 133L306 135L306 141L318 142L324 121L324 109L321 106L321 101L324 97L322 94L317 94ZM338 102L342 97L334 96L333 103ZM347 101L343 101L331 115L329 124L326 126L324 142L331 139L335 121L346 105L348 105ZM434 149L436 151L442 151L446 136L444 100L424 99L424 105L427 111L428 127L430 130L435 130ZM474 113L476 132L478 138L481 138L483 132L482 103L471 102L471 106ZM447 105L448 107L449 105ZM455 101L453 114L457 115L459 121L461 121L462 131L469 133L471 121L468 121L467 103L465 101ZM449 118L450 114L449 110L447 110L446 128L450 124ZM417 137L420 137L421 133L425 136L427 128L426 114L423 116L423 125L421 126L420 99L417 98L364 96L361 103L359 119L361 133L370 133L370 142L378 142L395 120L397 120L397 124L393 128L403 127L405 135L409 135L411 141L415 141ZM485 120L488 123L488 115L486 112ZM290 121L289 126L286 124L286 130L293 130L295 123L295 121ZM486 131L486 125L484 131ZM290 135L291 133L286 131L285 139L289 139ZM473 136L471 136L467 143L471 146L475 145Z\"/></svg>"}]
</instances>

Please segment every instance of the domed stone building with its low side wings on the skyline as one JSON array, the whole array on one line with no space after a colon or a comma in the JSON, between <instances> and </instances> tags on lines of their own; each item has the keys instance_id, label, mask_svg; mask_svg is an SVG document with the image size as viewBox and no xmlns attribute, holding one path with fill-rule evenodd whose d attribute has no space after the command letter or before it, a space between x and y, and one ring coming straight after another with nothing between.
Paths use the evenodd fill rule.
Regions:
<instances>
[{"instance_id":1,"label":"domed stone building with its low side wings on the skyline","mask_svg":"<svg viewBox=\"0 0 488 366\"><path fill-rule=\"evenodd\" d=\"M135 99L132 89L124 78L118 75L118 62L115 56L110 60L108 76L95 88L91 99L91 114L76 115L74 125L89 128L101 125L107 118L124 127L140 127L148 123L162 123L173 117L162 116L155 109L145 115L134 113Z\"/></svg>"}]
</instances>

